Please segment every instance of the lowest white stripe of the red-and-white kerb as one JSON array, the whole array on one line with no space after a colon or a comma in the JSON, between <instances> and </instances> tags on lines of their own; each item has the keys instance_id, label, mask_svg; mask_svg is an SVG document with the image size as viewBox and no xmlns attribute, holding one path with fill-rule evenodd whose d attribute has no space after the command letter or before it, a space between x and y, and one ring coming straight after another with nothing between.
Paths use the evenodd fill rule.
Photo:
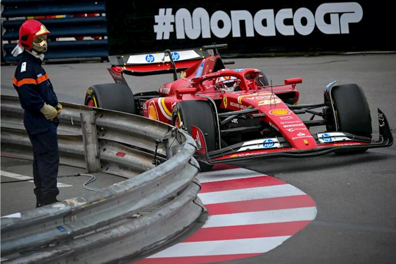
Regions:
<instances>
[{"instance_id":1,"label":"lowest white stripe of the red-and-white kerb","mask_svg":"<svg viewBox=\"0 0 396 264\"><path fill-rule=\"evenodd\" d=\"M291 236L185 242L173 245L147 258L265 253L278 247L289 237Z\"/></svg>"}]
</instances>

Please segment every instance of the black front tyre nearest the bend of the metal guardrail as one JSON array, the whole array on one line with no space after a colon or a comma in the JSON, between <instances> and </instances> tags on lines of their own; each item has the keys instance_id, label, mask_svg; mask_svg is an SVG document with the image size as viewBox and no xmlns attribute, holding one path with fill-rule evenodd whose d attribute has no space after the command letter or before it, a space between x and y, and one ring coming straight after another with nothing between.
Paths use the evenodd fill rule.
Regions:
<instances>
[{"instance_id":1,"label":"black front tyre nearest the bend of the metal guardrail","mask_svg":"<svg viewBox=\"0 0 396 264\"><path fill-rule=\"evenodd\" d=\"M192 134L191 126L196 126L202 130L206 141L207 151L217 149L217 129L215 125L215 114L209 101L188 100L181 101L175 105L172 115L172 124L176 127L187 128L187 132ZM198 161L201 172L209 171L213 165Z\"/></svg>"}]
</instances>

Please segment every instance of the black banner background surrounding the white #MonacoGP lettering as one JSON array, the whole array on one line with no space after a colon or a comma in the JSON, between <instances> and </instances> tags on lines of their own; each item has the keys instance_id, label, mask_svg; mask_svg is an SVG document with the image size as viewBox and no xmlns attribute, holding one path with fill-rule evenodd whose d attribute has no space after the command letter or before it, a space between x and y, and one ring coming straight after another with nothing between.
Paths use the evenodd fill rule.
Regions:
<instances>
[{"instance_id":1,"label":"black banner background surrounding the white #MonacoGP lettering","mask_svg":"<svg viewBox=\"0 0 396 264\"><path fill-rule=\"evenodd\" d=\"M316 3L315 3L316 2ZM202 34L197 39L176 38L176 26L170 33L168 40L156 40L154 33L154 15L158 15L159 8L172 8L172 14L180 8L187 8L192 13L195 8L204 8L209 19L215 11L222 10L230 16L231 10L247 10L251 16L263 9L274 9L274 15L282 8L292 8L293 14L299 8L308 8L313 16L320 4L334 3L341 1L292 1L278 0L256 2L257 4L247 4L246 2L228 2L220 4L218 2L186 2L173 0L169 2L128 1L128 6L120 6L120 2L106 1L106 16L108 21L108 41L109 55L131 54L163 51L165 49L196 48L202 45L228 44L227 50L222 50L222 54L245 53L257 54L267 52L347 52L347 51L368 51L368 50L395 50L392 40L394 33L394 15L391 4L385 1L356 1L362 6L363 17L358 23L349 23L349 34L324 34L315 25L312 33L301 35L294 31L292 36L284 36L276 29L276 36L261 36L254 29L254 36L247 37L245 22L240 22L241 37L232 37L232 31L225 38L217 38L211 31L211 38L202 38ZM346 2L346 1L345 1ZM252 2L251 2L252 3ZM345 12L345 11L344 11ZM344 13L339 12L338 17ZM304 25L306 19L302 19ZM264 20L265 21L265 20ZM324 15L325 23L330 23L330 14ZM265 23L265 22L264 22ZM219 27L222 27L219 23ZM285 25L293 25L293 19L285 19ZM265 25L265 24L264 24Z\"/></svg>"}]
</instances>

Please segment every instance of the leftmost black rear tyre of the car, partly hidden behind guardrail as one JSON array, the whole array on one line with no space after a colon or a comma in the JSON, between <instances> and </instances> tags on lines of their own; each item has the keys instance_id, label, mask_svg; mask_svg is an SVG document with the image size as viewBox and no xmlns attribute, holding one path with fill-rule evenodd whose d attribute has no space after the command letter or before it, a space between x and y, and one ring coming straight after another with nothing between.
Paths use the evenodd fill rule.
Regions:
<instances>
[{"instance_id":1,"label":"leftmost black rear tyre of the car, partly hidden behind guardrail","mask_svg":"<svg viewBox=\"0 0 396 264\"><path fill-rule=\"evenodd\" d=\"M135 100L129 86L120 83L96 84L88 88L84 105L135 114Z\"/></svg>"}]
</instances>

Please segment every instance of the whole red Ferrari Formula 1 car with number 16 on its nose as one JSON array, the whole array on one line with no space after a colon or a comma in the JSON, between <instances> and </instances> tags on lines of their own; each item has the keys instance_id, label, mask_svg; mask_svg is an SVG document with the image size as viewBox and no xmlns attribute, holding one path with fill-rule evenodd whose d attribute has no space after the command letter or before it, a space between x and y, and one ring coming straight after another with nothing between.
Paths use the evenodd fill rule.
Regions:
<instances>
[{"instance_id":1,"label":"whole red Ferrari Formula 1 car with number 16 on its nose","mask_svg":"<svg viewBox=\"0 0 396 264\"><path fill-rule=\"evenodd\" d=\"M89 87L85 105L185 128L197 142L201 171L216 163L362 153L392 145L388 121L380 109L379 139L372 139L369 104L357 84L331 82L324 87L323 103L299 105L296 85L302 78L272 85L259 69L226 69L225 65L234 64L218 53L226 47L109 56L115 83ZM158 91L135 94L123 76L162 73L173 73L174 80ZM301 120L298 115L303 113L312 118ZM320 119L314 120L315 116ZM326 130L313 134L313 126Z\"/></svg>"}]
</instances>

